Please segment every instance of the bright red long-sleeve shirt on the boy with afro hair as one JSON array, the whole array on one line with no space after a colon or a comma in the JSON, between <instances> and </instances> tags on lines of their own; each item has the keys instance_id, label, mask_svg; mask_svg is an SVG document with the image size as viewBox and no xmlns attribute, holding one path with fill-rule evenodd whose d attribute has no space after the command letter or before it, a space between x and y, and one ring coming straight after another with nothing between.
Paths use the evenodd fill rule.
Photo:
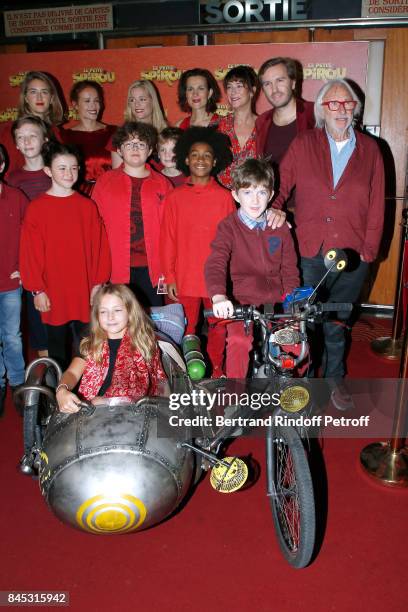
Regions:
<instances>
[{"instance_id":1,"label":"bright red long-sleeve shirt on the boy with afro hair","mask_svg":"<svg viewBox=\"0 0 408 612\"><path fill-rule=\"evenodd\" d=\"M235 210L231 193L214 179L207 185L186 183L172 191L164 206L160 255L167 283L179 295L206 297L204 264L218 223Z\"/></svg>"}]
</instances>

